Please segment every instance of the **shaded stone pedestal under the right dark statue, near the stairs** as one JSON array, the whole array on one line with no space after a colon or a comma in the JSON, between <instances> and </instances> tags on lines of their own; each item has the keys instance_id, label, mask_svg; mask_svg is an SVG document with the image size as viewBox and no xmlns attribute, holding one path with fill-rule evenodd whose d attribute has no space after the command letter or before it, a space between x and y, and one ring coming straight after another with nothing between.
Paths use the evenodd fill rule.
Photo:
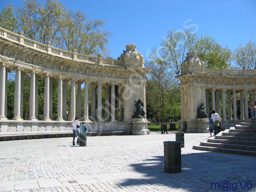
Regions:
<instances>
[{"instance_id":1,"label":"shaded stone pedestal under the right dark statue, near the stairs","mask_svg":"<svg viewBox=\"0 0 256 192\"><path fill-rule=\"evenodd\" d=\"M208 133L208 118L187 121L186 133Z\"/></svg>"}]
</instances>

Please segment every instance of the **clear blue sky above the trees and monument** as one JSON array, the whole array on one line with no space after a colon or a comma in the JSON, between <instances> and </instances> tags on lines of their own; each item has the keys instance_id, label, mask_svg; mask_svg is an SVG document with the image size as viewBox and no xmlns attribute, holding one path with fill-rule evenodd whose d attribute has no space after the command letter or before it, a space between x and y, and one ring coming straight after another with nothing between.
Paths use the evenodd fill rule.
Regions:
<instances>
[{"instance_id":1,"label":"clear blue sky above the trees and monument","mask_svg":"<svg viewBox=\"0 0 256 192\"><path fill-rule=\"evenodd\" d=\"M23 0L1 0L19 5ZM106 20L112 33L108 47L117 58L132 42L147 58L154 45L169 29L183 30L193 24L198 34L208 34L232 50L239 44L256 41L256 0L61 0L72 10L80 9L88 18ZM190 19L190 20L188 20ZM194 27L195 29L195 27Z\"/></svg>"}]
</instances>

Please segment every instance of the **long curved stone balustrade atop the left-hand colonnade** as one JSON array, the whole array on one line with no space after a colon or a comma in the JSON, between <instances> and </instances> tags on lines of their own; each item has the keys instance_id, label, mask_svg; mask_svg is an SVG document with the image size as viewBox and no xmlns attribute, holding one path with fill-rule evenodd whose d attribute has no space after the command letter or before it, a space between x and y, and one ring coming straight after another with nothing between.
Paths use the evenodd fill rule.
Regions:
<instances>
[{"instance_id":1,"label":"long curved stone balustrade atop the left-hand colonnade","mask_svg":"<svg viewBox=\"0 0 256 192\"><path fill-rule=\"evenodd\" d=\"M48 42L47 44L43 44L37 41L33 41L31 39L24 37L22 32L17 34L1 27L0 27L0 37L7 39L9 41L16 42L23 46L27 46L29 48L35 49L37 51L44 52L57 57L62 57L65 59L72 59L75 61L91 63L95 65L109 65L109 66L116 66L116 67L124 66L121 60L93 57L89 55L78 54L76 52L70 52L67 50L55 48L51 46L50 42Z\"/></svg>"}]
</instances>

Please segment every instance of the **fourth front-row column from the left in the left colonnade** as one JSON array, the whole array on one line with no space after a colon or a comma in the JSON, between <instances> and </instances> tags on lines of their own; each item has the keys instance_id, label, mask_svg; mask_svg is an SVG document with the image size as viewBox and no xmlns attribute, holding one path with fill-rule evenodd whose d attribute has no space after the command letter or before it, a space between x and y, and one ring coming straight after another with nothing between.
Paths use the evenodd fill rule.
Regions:
<instances>
[{"instance_id":1,"label":"fourth front-row column from the left in the left colonnade","mask_svg":"<svg viewBox=\"0 0 256 192\"><path fill-rule=\"evenodd\" d=\"M44 120L50 121L50 74L45 75Z\"/></svg>"}]
</instances>

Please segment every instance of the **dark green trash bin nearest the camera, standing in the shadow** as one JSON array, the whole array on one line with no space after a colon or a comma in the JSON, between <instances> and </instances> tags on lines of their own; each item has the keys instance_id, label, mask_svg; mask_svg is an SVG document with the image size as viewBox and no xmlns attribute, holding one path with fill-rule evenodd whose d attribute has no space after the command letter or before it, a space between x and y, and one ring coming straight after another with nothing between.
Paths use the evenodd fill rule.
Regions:
<instances>
[{"instance_id":1,"label":"dark green trash bin nearest the camera, standing in the shadow","mask_svg":"<svg viewBox=\"0 0 256 192\"><path fill-rule=\"evenodd\" d=\"M165 141L163 142L164 170L166 173L181 172L181 142Z\"/></svg>"}]
</instances>

